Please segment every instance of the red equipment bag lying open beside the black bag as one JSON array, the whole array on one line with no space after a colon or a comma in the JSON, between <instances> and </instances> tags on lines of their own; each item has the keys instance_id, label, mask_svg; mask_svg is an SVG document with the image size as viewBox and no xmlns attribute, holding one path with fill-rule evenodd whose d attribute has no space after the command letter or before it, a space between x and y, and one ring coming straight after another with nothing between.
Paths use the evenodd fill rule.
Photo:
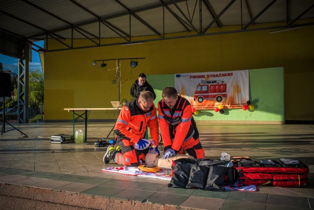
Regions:
<instances>
[{"instance_id":1,"label":"red equipment bag lying open beside the black bag","mask_svg":"<svg viewBox=\"0 0 314 210\"><path fill-rule=\"evenodd\" d=\"M240 160L235 164L239 183L244 185L272 184L278 187L295 187L308 183L309 167L299 160Z\"/></svg>"}]
</instances>

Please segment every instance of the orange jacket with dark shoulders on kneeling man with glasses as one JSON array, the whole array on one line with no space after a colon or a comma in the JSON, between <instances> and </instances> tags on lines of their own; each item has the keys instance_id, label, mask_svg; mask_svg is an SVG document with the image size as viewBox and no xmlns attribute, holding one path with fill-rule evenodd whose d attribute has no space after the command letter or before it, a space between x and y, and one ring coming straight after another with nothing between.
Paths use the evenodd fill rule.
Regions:
<instances>
[{"instance_id":1,"label":"orange jacket with dark shoulders on kneeling man with glasses","mask_svg":"<svg viewBox=\"0 0 314 210\"><path fill-rule=\"evenodd\" d=\"M140 108L138 99L135 99L122 108L114 131L117 139L126 139L136 144L144 137L146 126L150 128L152 140L158 146L159 133L155 105L153 104L151 109L145 112Z\"/></svg>"}]
</instances>

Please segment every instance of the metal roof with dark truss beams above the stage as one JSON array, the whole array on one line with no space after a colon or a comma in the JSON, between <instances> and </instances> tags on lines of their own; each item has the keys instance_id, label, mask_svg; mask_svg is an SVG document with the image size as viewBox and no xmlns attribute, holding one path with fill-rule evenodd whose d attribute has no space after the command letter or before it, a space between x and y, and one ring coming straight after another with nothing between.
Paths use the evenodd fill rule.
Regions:
<instances>
[{"instance_id":1,"label":"metal roof with dark truss beams above the stage","mask_svg":"<svg viewBox=\"0 0 314 210\"><path fill-rule=\"evenodd\" d=\"M66 39L97 47L314 25L313 7L314 0L1 0L0 31L27 42L55 39L64 47L57 50L70 50L79 47ZM188 33L167 35L177 32ZM143 36L150 37L134 38Z\"/></svg>"}]
</instances>

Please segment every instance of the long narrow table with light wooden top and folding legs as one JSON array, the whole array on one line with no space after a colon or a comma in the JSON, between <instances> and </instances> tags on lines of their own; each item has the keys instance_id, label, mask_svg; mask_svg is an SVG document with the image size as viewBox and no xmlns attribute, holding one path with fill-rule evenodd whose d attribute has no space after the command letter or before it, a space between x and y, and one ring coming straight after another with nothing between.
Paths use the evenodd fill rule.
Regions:
<instances>
[{"instance_id":1,"label":"long narrow table with light wooden top and folding legs","mask_svg":"<svg viewBox=\"0 0 314 210\"><path fill-rule=\"evenodd\" d=\"M77 121L78 119L82 118L85 120L85 138L84 141L87 141L87 120L88 120L88 114L92 111L92 110L117 110L119 112L119 110L121 110L121 107L117 107L117 108L69 108L69 109L64 109L67 110L68 112L72 111L73 112L73 138L75 138L75 121ZM77 112L83 112L82 114L78 114ZM119 115L119 114L118 114ZM75 118L75 116L77 116ZM114 125L113 125L114 126ZM111 129L111 131L113 130L113 128ZM110 133L111 133L110 131ZM107 135L107 137L110 135L110 133Z\"/></svg>"}]
</instances>

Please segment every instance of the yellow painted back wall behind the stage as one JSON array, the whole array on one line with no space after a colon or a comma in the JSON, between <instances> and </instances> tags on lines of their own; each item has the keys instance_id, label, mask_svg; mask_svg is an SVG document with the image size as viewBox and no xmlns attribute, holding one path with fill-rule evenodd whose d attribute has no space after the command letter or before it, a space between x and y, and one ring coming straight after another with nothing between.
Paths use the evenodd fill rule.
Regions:
<instances>
[{"instance_id":1,"label":"yellow painted back wall behind the stage","mask_svg":"<svg viewBox=\"0 0 314 210\"><path fill-rule=\"evenodd\" d=\"M232 28L236 27L228 30ZM130 87L140 72L174 74L283 66L286 120L314 120L308 106L314 104L313 37L314 26L306 26L278 33L262 30L45 53L45 120L72 119L64 108L111 107L110 101L118 100L118 86L111 83L116 78L116 61L107 61L106 68L101 68L100 62L93 66L92 61L134 57L145 60L138 60L133 69L130 60L121 60L120 100L131 99ZM91 44L76 40L75 46L78 42L80 46ZM59 43L49 41L50 48L56 46ZM95 111L89 119L115 119L115 115L113 111Z\"/></svg>"}]
</instances>

